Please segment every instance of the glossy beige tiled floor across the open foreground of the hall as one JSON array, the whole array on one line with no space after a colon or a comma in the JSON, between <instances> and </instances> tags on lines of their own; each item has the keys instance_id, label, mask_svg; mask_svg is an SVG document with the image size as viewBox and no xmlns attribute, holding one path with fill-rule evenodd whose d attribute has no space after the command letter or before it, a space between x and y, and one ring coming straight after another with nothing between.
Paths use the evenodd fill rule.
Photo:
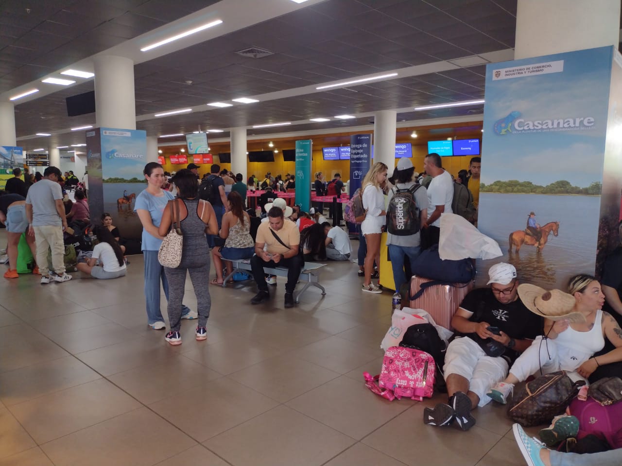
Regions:
<instances>
[{"instance_id":1,"label":"glossy beige tiled floor across the open foreground of the hall","mask_svg":"<svg viewBox=\"0 0 622 466\"><path fill-rule=\"evenodd\" d=\"M362 293L356 270L329 263L327 295L294 309L282 278L262 306L249 283L211 286L207 342L183 321L178 347L147 327L142 256L118 280L0 278L0 465L522 465L499 406L468 432L435 429L422 410L442 396L365 388L391 293Z\"/></svg>"}]
</instances>

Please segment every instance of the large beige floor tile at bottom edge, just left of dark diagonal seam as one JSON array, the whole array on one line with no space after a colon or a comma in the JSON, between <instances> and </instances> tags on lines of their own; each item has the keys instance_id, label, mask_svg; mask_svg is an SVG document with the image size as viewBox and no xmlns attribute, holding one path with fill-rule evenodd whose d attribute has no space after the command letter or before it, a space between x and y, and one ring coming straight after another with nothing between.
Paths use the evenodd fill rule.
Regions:
<instances>
[{"instance_id":1,"label":"large beige floor tile at bottom edge, just left of dark diagonal seam","mask_svg":"<svg viewBox=\"0 0 622 466\"><path fill-rule=\"evenodd\" d=\"M195 444L157 414L139 408L40 446L55 465L151 466Z\"/></svg>"}]
</instances>

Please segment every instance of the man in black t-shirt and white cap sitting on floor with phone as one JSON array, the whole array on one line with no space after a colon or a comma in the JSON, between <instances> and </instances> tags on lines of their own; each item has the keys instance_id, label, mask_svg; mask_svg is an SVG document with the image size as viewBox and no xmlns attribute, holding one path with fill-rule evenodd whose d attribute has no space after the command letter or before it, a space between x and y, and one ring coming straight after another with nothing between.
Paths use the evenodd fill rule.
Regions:
<instances>
[{"instance_id":1,"label":"man in black t-shirt and white cap sitting on floor with phone","mask_svg":"<svg viewBox=\"0 0 622 466\"><path fill-rule=\"evenodd\" d=\"M516 268L500 262L488 275L490 288L468 293L452 318L457 337L447 347L443 367L449 401L425 408L425 424L448 426L455 420L463 431L473 427L471 409L490 402L486 393L541 334L541 319L519 299Z\"/></svg>"}]
</instances>

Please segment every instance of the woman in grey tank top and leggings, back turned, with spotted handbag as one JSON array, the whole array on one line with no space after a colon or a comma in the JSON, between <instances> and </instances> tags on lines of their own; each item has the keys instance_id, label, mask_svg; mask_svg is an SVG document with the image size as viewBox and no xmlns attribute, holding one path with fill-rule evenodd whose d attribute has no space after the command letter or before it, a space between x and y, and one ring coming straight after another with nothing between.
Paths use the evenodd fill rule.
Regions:
<instances>
[{"instance_id":1,"label":"woman in grey tank top and leggings, back turned, with spotted handbag","mask_svg":"<svg viewBox=\"0 0 622 466\"><path fill-rule=\"evenodd\" d=\"M173 218L171 206L179 208L180 227L183 234L182 261L179 267L164 267L167 281L169 281L169 313L170 332L165 340L171 345L182 344L179 332L182 318L183 290L186 282L186 273L190 273L190 280L197 296L198 326L197 340L207 339L207 319L210 316L211 298L208 288L210 277L210 248L205 233L218 234L218 223L211 204L198 199L197 178L192 171L183 169L172 178L177 186L177 199L169 201L162 213L162 222L158 228L160 236L165 236L170 229ZM177 204L177 205L175 205ZM205 226L207 225L207 231Z\"/></svg>"}]
</instances>

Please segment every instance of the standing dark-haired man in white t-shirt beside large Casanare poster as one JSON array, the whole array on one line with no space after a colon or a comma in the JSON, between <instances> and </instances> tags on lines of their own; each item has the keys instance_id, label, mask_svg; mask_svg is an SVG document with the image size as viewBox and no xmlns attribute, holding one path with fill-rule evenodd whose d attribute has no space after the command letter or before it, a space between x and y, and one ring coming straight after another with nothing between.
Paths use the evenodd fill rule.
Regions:
<instances>
[{"instance_id":1,"label":"standing dark-haired man in white t-shirt beside large Casanare poster","mask_svg":"<svg viewBox=\"0 0 622 466\"><path fill-rule=\"evenodd\" d=\"M432 176L427 188L428 209L427 221L422 222L421 249L428 249L439 244L440 214L453 214L453 180L452 175L442 167L440 155L429 153L424 158L425 173Z\"/></svg>"}]
</instances>

